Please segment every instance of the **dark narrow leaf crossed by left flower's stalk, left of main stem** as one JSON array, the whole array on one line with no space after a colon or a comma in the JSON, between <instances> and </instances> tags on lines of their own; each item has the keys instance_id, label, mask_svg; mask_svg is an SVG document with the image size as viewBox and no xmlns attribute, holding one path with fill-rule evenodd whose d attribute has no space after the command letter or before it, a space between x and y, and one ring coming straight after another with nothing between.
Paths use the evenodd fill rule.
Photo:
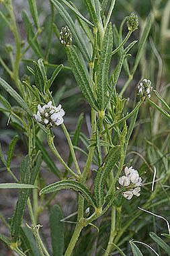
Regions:
<instances>
[{"instance_id":1,"label":"dark narrow leaf crossed by left flower's stalk, left of main stem","mask_svg":"<svg viewBox=\"0 0 170 256\"><path fill-rule=\"evenodd\" d=\"M82 123L83 123L83 114L79 115L79 119L77 121L77 127L75 129L75 134L74 134L73 139L72 139L73 146L77 146L77 144L78 144ZM73 158L72 158L71 152L70 152L67 165L69 167L71 167L72 163L73 163Z\"/></svg>"}]
</instances>

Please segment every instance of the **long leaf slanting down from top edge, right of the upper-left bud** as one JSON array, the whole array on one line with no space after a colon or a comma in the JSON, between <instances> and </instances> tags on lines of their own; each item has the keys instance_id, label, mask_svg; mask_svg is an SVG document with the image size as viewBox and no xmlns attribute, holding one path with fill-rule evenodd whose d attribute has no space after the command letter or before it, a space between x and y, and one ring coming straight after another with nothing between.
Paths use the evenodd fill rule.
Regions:
<instances>
[{"instance_id":1,"label":"long leaf slanting down from top edge, right of the upper-left bud","mask_svg":"<svg viewBox=\"0 0 170 256\"><path fill-rule=\"evenodd\" d=\"M87 59L87 61L91 60L91 57L89 55L89 52L87 51L87 46L85 45L85 42L83 38L81 38L81 35L79 31L77 30L75 23L73 22L71 16L65 9L65 7L62 6L60 1L57 0L51 0L54 4L54 7L58 10L63 20L65 20L66 24L69 26L72 34L73 34L73 40L77 43L77 46L79 47L81 53L83 53L84 57Z\"/></svg>"}]
</instances>

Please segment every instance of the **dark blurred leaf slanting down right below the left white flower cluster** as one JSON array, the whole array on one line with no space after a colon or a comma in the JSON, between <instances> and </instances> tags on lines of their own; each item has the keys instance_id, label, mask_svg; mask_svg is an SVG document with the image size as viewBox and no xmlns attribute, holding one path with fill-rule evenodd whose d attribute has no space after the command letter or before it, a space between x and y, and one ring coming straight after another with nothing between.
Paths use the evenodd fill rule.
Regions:
<instances>
[{"instance_id":1,"label":"dark blurred leaf slanting down right below the left white flower cluster","mask_svg":"<svg viewBox=\"0 0 170 256\"><path fill-rule=\"evenodd\" d=\"M46 162L50 171L53 172L58 178L60 178L60 170L58 170L56 164L54 164L54 161L52 160L52 158L50 157L50 155L48 154L48 152L44 148L44 145L42 144L40 139L38 139L38 137L36 137L36 145L38 146L38 149L42 151L42 158L44 162Z\"/></svg>"}]
</instances>

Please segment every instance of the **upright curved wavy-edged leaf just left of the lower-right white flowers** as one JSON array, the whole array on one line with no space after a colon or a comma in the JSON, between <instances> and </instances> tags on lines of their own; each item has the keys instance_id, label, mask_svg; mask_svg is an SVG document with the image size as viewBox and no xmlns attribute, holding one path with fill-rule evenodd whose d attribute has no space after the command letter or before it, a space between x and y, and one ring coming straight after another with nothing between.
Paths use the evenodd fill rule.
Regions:
<instances>
[{"instance_id":1,"label":"upright curved wavy-edged leaf just left of the lower-right white flowers","mask_svg":"<svg viewBox=\"0 0 170 256\"><path fill-rule=\"evenodd\" d=\"M106 178L118 162L119 158L120 146L116 146L109 151L108 155L105 157L103 166L101 166L97 171L97 175L95 177L95 199L97 207L101 207L103 205Z\"/></svg>"}]
</instances>

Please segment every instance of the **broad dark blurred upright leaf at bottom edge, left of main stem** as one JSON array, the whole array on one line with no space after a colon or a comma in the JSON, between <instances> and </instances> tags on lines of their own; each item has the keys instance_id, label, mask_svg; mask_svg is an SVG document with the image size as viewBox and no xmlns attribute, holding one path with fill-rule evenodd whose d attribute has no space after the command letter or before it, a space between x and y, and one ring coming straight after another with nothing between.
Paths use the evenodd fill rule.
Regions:
<instances>
[{"instance_id":1,"label":"broad dark blurred upright leaf at bottom edge, left of main stem","mask_svg":"<svg viewBox=\"0 0 170 256\"><path fill-rule=\"evenodd\" d=\"M50 233L52 243L52 256L62 256L65 242L65 226L62 210L59 205L53 205L50 209Z\"/></svg>"}]
</instances>

